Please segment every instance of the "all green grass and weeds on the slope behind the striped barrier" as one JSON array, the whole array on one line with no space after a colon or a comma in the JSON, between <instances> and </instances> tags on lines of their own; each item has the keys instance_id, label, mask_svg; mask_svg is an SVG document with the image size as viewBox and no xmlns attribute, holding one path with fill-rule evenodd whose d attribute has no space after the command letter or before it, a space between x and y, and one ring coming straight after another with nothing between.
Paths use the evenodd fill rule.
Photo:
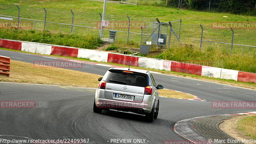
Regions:
<instances>
[{"instance_id":1,"label":"all green grass and weeds on the slope behind the striped barrier","mask_svg":"<svg viewBox=\"0 0 256 144\"><path fill-rule=\"evenodd\" d=\"M121 0L120 0L121 1ZM146 25L152 25L152 20L158 18L161 22L167 22L172 20L182 20L181 32L179 33L179 22L173 23L173 30L177 35L180 35L180 40L183 46L180 47L178 40L173 35L171 36L171 48L162 50L158 53L150 53L147 57L161 58L166 60L175 61L211 61L213 67L228 68L234 70L241 70L247 72L256 72L256 48L233 46L232 55L230 55L231 45L215 44L209 42L202 43L202 49L199 50L200 42L194 40L200 40L201 27L204 27L203 40L219 39L218 41L231 43L232 31L230 29L213 29L211 27L212 22L253 22L256 21L256 17L235 15L229 13L216 13L216 12L198 12L192 10L184 10L177 8L170 8L164 6L165 1L161 1L159 6L158 0L150 0L143 3L142 0L138 1L138 5L119 4L119 3L107 3L105 20L111 22L128 21L126 15L128 15L131 21L143 22ZM9 4L9 5L6 5ZM0 35L0 38L16 39L16 40L28 40L33 42L45 42L52 44L60 44L67 46L75 46L82 48L95 48L99 43L90 39L99 36L98 24L100 22L100 13L102 13L103 2L90 1L90 0L0 0L0 15L8 15L18 17L18 8L20 6L20 17L33 20L44 20L44 10L47 10L46 21L58 22L58 23L72 23L72 13L74 12L74 25L90 26L93 28L73 27L72 34L75 36L68 36L71 33L70 25L60 25L54 23L46 23L46 28L52 35L60 36L54 40L54 38L43 38L44 34L38 34L36 38L33 35L27 36L27 34L20 34L22 32L12 33L12 30L8 29ZM148 5L147 5L148 4ZM153 6L155 5L155 6ZM223 17L225 16L225 17ZM6 21L6 20L1 20ZM17 21L17 19L13 19ZM37 22L32 20L22 20L32 23L33 28L42 31L44 29L44 22ZM155 21L155 20L154 20ZM111 29L111 28L110 28ZM127 31L127 28L115 28L113 30ZM66 34L66 38L61 38L58 33ZM118 47L140 47L141 29L140 27L131 28L130 32L138 34L129 35L129 44L126 44L127 33L117 32L115 45ZM152 28L144 30L144 33L150 34ZM234 44L246 44L256 46L256 29L234 29ZM40 33L37 32L36 33ZM165 31L166 33L166 31ZM169 34L169 32L167 32ZM167 34L167 39L168 39ZM19 35L19 36L18 36ZM86 46L83 46L83 38L81 36L90 37L86 38ZM30 38L29 38L30 37ZM54 37L54 36L52 36ZM67 38L68 37L68 38ZM109 37L108 30L104 30L103 37ZM147 37L143 37L146 39ZM216 41L216 40L213 40ZM91 43L93 42L93 43ZM77 44L76 44L77 43ZM88 45L89 44L89 45ZM187 44L187 45L186 45ZM82 45L82 46L81 46ZM193 46L190 46L193 45ZM151 50L156 50L154 46ZM144 56L144 55L143 55Z\"/></svg>"}]
</instances>

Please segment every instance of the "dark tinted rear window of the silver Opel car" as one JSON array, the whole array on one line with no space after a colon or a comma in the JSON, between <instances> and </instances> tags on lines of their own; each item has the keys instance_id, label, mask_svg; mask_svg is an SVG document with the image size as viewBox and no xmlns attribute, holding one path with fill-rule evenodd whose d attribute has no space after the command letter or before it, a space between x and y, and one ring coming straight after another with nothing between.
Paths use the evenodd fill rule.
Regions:
<instances>
[{"instance_id":1,"label":"dark tinted rear window of the silver Opel car","mask_svg":"<svg viewBox=\"0 0 256 144\"><path fill-rule=\"evenodd\" d=\"M123 72L123 70L108 70L105 80L107 83L125 84L140 87L146 87L150 85L148 75L135 72L128 73Z\"/></svg>"}]
</instances>

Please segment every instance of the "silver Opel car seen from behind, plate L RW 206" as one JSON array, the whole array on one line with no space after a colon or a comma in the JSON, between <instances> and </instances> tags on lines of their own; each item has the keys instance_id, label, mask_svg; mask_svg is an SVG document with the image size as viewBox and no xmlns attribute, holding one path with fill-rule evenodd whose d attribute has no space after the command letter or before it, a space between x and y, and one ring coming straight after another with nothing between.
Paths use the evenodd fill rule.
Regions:
<instances>
[{"instance_id":1,"label":"silver Opel car seen from behind, plate L RW 206","mask_svg":"<svg viewBox=\"0 0 256 144\"><path fill-rule=\"evenodd\" d=\"M118 110L145 115L146 120L153 122L159 112L158 89L149 71L128 68L110 68L100 77L95 93L93 112Z\"/></svg>"}]
</instances>

